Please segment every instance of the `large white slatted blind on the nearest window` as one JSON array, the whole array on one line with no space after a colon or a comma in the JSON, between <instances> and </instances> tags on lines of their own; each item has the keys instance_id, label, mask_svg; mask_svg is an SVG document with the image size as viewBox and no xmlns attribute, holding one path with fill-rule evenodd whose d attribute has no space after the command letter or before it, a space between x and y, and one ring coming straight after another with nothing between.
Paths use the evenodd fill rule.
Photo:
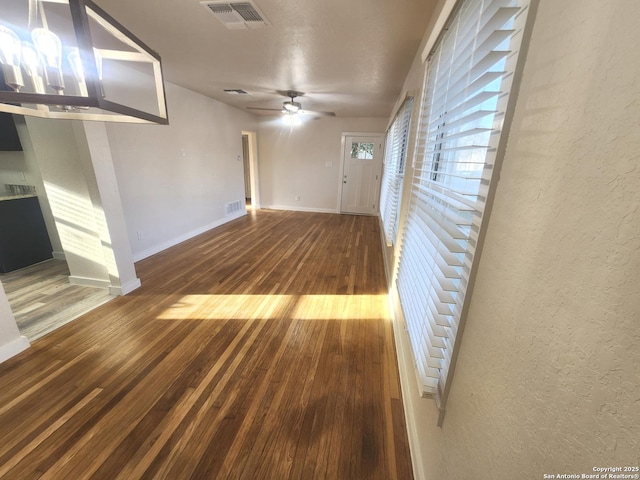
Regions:
<instances>
[{"instance_id":1,"label":"large white slatted blind on the nearest window","mask_svg":"<svg viewBox=\"0 0 640 480\"><path fill-rule=\"evenodd\" d=\"M463 1L428 60L397 281L423 394L450 380L527 11Z\"/></svg>"}]
</instances>

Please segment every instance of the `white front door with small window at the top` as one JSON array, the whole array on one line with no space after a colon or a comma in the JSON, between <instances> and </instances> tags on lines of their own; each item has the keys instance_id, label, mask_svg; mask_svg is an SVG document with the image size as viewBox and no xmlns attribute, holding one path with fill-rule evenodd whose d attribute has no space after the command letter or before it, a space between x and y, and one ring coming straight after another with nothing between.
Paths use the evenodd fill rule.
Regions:
<instances>
[{"instance_id":1,"label":"white front door with small window at the top","mask_svg":"<svg viewBox=\"0 0 640 480\"><path fill-rule=\"evenodd\" d=\"M382 135L344 137L342 213L376 215L382 171Z\"/></svg>"}]
</instances>

